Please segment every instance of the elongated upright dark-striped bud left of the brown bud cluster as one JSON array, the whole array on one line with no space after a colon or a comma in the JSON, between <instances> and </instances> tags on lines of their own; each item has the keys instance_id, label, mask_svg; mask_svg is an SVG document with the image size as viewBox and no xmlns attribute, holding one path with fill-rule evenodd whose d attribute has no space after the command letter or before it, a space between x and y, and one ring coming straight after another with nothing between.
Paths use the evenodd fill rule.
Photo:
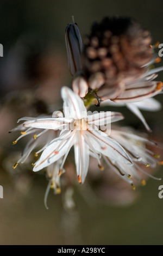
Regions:
<instances>
[{"instance_id":1,"label":"elongated upright dark-striped bud left of the brown bud cluster","mask_svg":"<svg viewBox=\"0 0 163 256\"><path fill-rule=\"evenodd\" d=\"M81 53L82 38L77 23L69 23L66 27L66 49L68 57L68 68L72 76L82 71Z\"/></svg>"}]
</instances>

